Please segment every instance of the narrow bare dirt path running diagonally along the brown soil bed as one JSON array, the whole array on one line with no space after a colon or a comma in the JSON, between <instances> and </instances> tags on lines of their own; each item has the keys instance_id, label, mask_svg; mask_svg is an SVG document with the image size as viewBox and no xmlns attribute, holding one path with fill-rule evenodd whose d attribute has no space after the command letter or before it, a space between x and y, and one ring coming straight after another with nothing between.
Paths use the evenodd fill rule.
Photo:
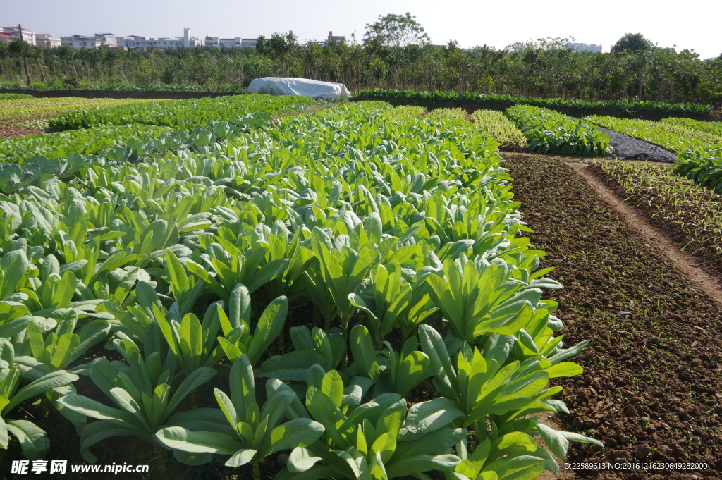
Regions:
<instances>
[{"instance_id":1,"label":"narrow bare dirt path running diagonally along the brown soil bed","mask_svg":"<svg viewBox=\"0 0 722 480\"><path fill-rule=\"evenodd\" d=\"M594 188L601 198L606 201L607 204L611 205L612 208L617 211L623 219L625 219L630 227L634 228L640 235L645 237L651 245L656 247L662 255L673 262L675 266L677 266L677 269L682 271L687 279L694 282L698 288L702 289L706 294L719 302L720 306L722 306L722 287L720 285L720 279L700 269L699 259L691 256L689 253L680 252L677 245L665 237L664 232L661 232L658 228L650 224L645 219L644 214L640 213L629 204L625 204L625 201L622 198L619 198L613 191L604 185L604 182L586 171L586 167L584 165L580 165L579 163L567 163L567 165L572 167L576 173L584 178L586 183Z\"/></svg>"}]
</instances>

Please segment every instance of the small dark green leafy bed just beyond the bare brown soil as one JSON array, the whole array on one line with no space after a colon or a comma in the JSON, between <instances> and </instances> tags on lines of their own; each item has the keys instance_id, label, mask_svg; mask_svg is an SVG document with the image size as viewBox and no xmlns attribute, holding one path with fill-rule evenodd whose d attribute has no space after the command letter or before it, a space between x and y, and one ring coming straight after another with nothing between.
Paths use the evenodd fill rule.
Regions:
<instances>
[{"instance_id":1,"label":"small dark green leafy bed just beyond the bare brown soil","mask_svg":"<svg viewBox=\"0 0 722 480\"><path fill-rule=\"evenodd\" d=\"M554 110L516 105L506 115L526 135L529 148L541 153L609 157L609 136L590 123Z\"/></svg>"}]
</instances>

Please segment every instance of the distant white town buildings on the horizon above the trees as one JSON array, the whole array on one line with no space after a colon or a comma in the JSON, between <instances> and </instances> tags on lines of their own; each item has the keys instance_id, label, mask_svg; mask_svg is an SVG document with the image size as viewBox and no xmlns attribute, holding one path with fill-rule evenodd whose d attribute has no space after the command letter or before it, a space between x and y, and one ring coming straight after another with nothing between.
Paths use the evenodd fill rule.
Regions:
<instances>
[{"instance_id":1,"label":"distant white town buildings on the horizon above the trees","mask_svg":"<svg viewBox=\"0 0 722 480\"><path fill-rule=\"evenodd\" d=\"M68 46L72 48L119 48L127 50L129 48L177 48L177 47L216 47L216 48L233 48L233 47L256 47L258 38L219 38L206 36L201 41L200 38L191 37L191 29L184 28L182 37L142 37L140 35L128 35L121 37L113 33L96 33L92 37L86 35L69 35L67 37L55 38L48 33L35 33L31 30L17 27L0 27L0 42L10 43L15 38L22 38L30 45L42 45L48 48L59 46ZM346 37L342 35L334 35L329 32L326 40L312 41L318 45L324 46L329 43L346 43Z\"/></svg>"}]
</instances>

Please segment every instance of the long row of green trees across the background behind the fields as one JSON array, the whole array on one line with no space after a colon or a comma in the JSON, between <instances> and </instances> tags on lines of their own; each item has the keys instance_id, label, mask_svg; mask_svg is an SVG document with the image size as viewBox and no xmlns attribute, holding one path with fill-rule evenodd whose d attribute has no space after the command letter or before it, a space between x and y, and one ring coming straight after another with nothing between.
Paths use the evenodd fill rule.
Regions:
<instances>
[{"instance_id":1,"label":"long row of green trees across the background behind the fields","mask_svg":"<svg viewBox=\"0 0 722 480\"><path fill-rule=\"evenodd\" d=\"M722 104L722 54L659 48L627 34L611 53L574 53L571 39L547 38L462 49L432 45L410 14L367 25L361 43L300 44L293 32L258 38L256 48L29 48L0 45L5 82L247 85L258 77L342 82L351 90L399 88L469 91L583 100L628 98ZM27 75L25 65L27 64Z\"/></svg>"}]
</instances>

